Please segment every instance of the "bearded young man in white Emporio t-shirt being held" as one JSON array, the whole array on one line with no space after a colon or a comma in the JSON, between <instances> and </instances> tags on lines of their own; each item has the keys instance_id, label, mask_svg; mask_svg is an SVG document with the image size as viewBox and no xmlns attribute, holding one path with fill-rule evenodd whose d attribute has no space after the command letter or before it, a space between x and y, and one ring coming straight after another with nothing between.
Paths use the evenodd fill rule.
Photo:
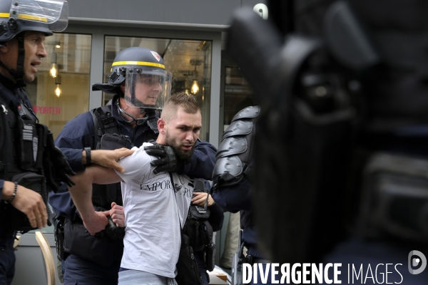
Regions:
<instances>
[{"instance_id":1,"label":"bearded young man in white Emporio t-shirt being held","mask_svg":"<svg viewBox=\"0 0 428 285\"><path fill-rule=\"evenodd\" d=\"M173 95L158 120L159 145L170 145L181 159L189 158L198 139L202 120L193 96ZM87 167L72 179L71 197L90 234L104 229L106 214L95 212L92 183L122 182L126 234L119 284L174 284L183 226L193 195L193 180L187 175L158 172L151 165L143 144L118 163L123 173L98 165Z\"/></svg>"}]
</instances>

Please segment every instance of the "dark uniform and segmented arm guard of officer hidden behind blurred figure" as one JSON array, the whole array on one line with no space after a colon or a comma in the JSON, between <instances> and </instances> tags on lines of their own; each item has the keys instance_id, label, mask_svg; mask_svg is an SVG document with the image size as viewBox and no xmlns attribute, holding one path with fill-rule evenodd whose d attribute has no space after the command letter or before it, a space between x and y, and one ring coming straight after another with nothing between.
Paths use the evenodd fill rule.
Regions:
<instances>
[{"instance_id":1,"label":"dark uniform and segmented arm guard of officer hidden behind blurred figure","mask_svg":"<svg viewBox=\"0 0 428 285\"><path fill-rule=\"evenodd\" d=\"M241 242L245 243L248 262L265 264L270 261L258 249L250 183L250 170L254 163L253 136L259 113L259 106L243 108L223 133L213 171L212 196L223 210L240 212L240 227L243 229ZM258 280L260 281L260 276ZM270 282L270 275L267 280Z\"/></svg>"}]
</instances>

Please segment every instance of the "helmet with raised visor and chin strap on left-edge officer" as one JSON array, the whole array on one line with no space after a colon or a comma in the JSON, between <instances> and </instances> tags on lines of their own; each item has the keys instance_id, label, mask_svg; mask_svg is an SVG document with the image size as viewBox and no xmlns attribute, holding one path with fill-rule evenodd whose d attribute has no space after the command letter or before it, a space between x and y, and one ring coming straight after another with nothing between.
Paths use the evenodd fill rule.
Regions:
<instances>
[{"instance_id":1,"label":"helmet with raised visor and chin strap on left-edge officer","mask_svg":"<svg viewBox=\"0 0 428 285\"><path fill-rule=\"evenodd\" d=\"M52 36L68 24L67 0L0 0L0 47L24 31L40 31ZM16 86L24 87L24 37L18 36L19 53L16 71L0 61L16 79Z\"/></svg>"}]
</instances>

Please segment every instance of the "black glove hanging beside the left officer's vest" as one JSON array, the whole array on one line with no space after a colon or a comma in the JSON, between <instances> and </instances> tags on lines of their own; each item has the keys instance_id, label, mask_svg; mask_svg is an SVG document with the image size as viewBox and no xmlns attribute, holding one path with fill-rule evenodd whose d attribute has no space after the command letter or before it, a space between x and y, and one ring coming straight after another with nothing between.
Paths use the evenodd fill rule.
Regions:
<instances>
[{"instance_id":1,"label":"black glove hanging beside the left officer's vest","mask_svg":"<svg viewBox=\"0 0 428 285\"><path fill-rule=\"evenodd\" d=\"M54 192L58 191L61 182L66 183L68 187L75 185L68 175L76 175L76 173L71 169L61 150L55 146L51 131L46 136L43 166L46 183Z\"/></svg>"}]
</instances>

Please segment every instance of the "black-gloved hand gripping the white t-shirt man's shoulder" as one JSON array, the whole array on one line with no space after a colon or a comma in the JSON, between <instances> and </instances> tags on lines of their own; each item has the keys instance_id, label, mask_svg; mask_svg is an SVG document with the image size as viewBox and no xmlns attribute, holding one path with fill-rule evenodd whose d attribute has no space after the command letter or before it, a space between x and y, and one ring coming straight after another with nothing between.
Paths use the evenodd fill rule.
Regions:
<instances>
[{"instance_id":1,"label":"black-gloved hand gripping the white t-shirt man's shoulder","mask_svg":"<svg viewBox=\"0 0 428 285\"><path fill-rule=\"evenodd\" d=\"M173 147L156 144L146 146L144 150L148 155L159 157L158 160L150 162L152 166L156 166L153 170L155 174L163 171L181 172L183 170L184 161L177 157Z\"/></svg>"}]
</instances>

